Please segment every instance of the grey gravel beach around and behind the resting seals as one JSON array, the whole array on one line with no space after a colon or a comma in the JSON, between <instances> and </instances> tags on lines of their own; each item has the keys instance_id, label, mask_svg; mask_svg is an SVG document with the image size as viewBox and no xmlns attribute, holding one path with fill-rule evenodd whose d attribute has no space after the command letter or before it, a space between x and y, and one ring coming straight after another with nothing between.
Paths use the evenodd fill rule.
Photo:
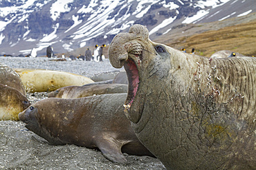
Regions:
<instances>
[{"instance_id":1,"label":"grey gravel beach around and behind the resting seals","mask_svg":"<svg viewBox=\"0 0 256 170\"><path fill-rule=\"evenodd\" d=\"M91 78L103 72L115 72L108 59L94 61L50 61L46 57L0 56L0 63L15 68L56 70ZM31 103L47 98L48 93L27 94ZM53 146L28 131L21 121L0 121L0 169L165 169L156 158L130 156L125 164L113 163L95 149L75 145Z\"/></svg>"}]
</instances>

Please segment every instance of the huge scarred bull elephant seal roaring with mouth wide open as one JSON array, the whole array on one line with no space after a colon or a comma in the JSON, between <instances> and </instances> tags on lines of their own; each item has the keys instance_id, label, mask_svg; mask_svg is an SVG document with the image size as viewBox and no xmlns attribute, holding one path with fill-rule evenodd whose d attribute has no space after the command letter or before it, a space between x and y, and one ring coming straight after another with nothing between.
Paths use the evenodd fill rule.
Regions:
<instances>
[{"instance_id":1,"label":"huge scarred bull elephant seal roaring with mouth wide open","mask_svg":"<svg viewBox=\"0 0 256 170\"><path fill-rule=\"evenodd\" d=\"M109 61L127 72L136 136L167 169L255 169L255 58L185 54L133 25Z\"/></svg>"}]
</instances>

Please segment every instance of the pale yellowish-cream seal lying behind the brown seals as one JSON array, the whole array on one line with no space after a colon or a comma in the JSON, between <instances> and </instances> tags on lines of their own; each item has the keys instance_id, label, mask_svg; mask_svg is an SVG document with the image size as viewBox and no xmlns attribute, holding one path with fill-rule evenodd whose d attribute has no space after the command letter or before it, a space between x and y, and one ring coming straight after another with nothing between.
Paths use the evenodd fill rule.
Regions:
<instances>
[{"instance_id":1,"label":"pale yellowish-cream seal lying behind the brown seals","mask_svg":"<svg viewBox=\"0 0 256 170\"><path fill-rule=\"evenodd\" d=\"M68 72L53 70L15 69L27 92L51 92L69 85L93 83L90 78Z\"/></svg>"}]
</instances>

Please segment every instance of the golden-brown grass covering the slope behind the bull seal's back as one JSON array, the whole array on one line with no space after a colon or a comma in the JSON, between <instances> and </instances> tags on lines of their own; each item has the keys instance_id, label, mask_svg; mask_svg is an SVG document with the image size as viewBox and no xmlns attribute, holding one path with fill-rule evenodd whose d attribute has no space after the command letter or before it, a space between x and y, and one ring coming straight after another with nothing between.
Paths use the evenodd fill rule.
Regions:
<instances>
[{"instance_id":1,"label":"golden-brown grass covering the slope behind the bull seal's back","mask_svg":"<svg viewBox=\"0 0 256 170\"><path fill-rule=\"evenodd\" d=\"M192 36L183 36L168 45L176 48L185 47L187 52L194 47L196 54L209 57L219 50L230 50L246 56L256 56L256 21Z\"/></svg>"}]
</instances>

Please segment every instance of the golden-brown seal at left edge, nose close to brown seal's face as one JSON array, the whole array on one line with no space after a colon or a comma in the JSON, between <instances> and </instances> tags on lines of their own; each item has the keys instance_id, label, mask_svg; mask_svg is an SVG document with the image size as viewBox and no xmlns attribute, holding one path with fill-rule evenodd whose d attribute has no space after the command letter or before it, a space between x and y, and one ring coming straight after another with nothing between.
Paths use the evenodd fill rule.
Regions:
<instances>
[{"instance_id":1,"label":"golden-brown seal at left edge, nose close to brown seal's face","mask_svg":"<svg viewBox=\"0 0 256 170\"><path fill-rule=\"evenodd\" d=\"M18 114L30 105L17 89L0 84L0 120L19 120Z\"/></svg>"}]
</instances>

